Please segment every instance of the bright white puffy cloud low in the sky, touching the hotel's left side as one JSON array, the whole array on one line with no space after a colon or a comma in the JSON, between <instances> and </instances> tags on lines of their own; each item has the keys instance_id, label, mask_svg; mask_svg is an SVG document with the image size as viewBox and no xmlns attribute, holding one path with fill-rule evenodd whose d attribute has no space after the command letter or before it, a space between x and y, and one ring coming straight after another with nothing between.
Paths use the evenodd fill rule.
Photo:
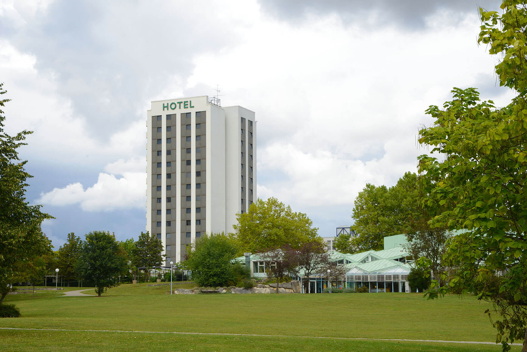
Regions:
<instances>
[{"instance_id":1,"label":"bright white puffy cloud low in the sky, touching the hotel's left side","mask_svg":"<svg viewBox=\"0 0 527 352\"><path fill-rule=\"evenodd\" d=\"M87 189L84 189L81 183L76 182L64 188L54 188L50 192L43 192L35 202L62 207L80 204L82 210L92 212L141 209L145 206L147 173L136 172L136 169L140 167L139 164L136 159L126 162L121 159L106 165L105 170L122 174L123 177L116 178L113 174L101 172L97 182ZM143 170L144 164L143 162Z\"/></svg>"}]
</instances>

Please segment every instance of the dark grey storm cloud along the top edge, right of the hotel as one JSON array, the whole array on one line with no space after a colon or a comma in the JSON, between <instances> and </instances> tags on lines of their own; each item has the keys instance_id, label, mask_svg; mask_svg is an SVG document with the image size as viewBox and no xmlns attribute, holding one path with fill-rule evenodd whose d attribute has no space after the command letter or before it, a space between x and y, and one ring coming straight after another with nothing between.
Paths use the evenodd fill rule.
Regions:
<instances>
[{"instance_id":1,"label":"dark grey storm cloud along the top edge, right of the hotel","mask_svg":"<svg viewBox=\"0 0 527 352\"><path fill-rule=\"evenodd\" d=\"M285 21L302 21L307 15L337 14L345 23L362 23L374 14L374 23L367 25L397 25L417 30L425 18L442 9L458 14L477 13L479 6L500 11L499 0L260 0L262 11ZM462 18L462 16L460 16Z\"/></svg>"}]
</instances>

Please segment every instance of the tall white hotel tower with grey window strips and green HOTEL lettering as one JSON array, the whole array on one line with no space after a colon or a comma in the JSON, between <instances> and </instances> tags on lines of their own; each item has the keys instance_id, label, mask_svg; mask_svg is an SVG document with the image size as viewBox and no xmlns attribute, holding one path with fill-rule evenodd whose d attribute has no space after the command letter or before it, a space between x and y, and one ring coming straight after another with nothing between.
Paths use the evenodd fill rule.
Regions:
<instances>
[{"instance_id":1,"label":"tall white hotel tower with grey window strips and green HOTEL lettering","mask_svg":"<svg viewBox=\"0 0 527 352\"><path fill-rule=\"evenodd\" d=\"M203 95L153 101L147 117L146 229L179 262L256 200L255 113Z\"/></svg>"}]
</instances>

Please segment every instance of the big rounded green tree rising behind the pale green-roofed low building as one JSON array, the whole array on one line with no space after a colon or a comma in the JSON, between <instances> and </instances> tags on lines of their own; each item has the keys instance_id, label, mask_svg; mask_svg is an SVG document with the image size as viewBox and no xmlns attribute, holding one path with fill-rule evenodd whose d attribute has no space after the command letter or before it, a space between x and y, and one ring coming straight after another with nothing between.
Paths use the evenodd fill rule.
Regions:
<instances>
[{"instance_id":1,"label":"big rounded green tree rising behind the pale green-roofed low building","mask_svg":"<svg viewBox=\"0 0 527 352\"><path fill-rule=\"evenodd\" d=\"M349 246L343 247L349 253L380 250L383 249L385 236L405 233L409 228L409 219L416 217L420 206L416 181L415 173L406 172L390 188L367 183L355 198L353 208L354 228L359 236L351 239ZM344 238L341 241L344 242Z\"/></svg>"}]
</instances>

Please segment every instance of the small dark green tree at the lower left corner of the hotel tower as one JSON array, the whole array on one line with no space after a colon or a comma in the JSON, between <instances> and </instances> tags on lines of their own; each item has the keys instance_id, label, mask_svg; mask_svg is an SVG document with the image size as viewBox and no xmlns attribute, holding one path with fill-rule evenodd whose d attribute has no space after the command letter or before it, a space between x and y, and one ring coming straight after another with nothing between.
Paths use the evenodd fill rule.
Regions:
<instances>
[{"instance_id":1,"label":"small dark green tree at the lower left corner of the hotel tower","mask_svg":"<svg viewBox=\"0 0 527 352\"><path fill-rule=\"evenodd\" d=\"M160 266L163 261L163 256L161 255L163 243L154 234L150 236L148 231L147 233L141 231L138 240L134 244L135 247L131 248L133 265L136 268L148 268L144 270L144 278L147 280L150 273L149 269Z\"/></svg>"}]
</instances>

